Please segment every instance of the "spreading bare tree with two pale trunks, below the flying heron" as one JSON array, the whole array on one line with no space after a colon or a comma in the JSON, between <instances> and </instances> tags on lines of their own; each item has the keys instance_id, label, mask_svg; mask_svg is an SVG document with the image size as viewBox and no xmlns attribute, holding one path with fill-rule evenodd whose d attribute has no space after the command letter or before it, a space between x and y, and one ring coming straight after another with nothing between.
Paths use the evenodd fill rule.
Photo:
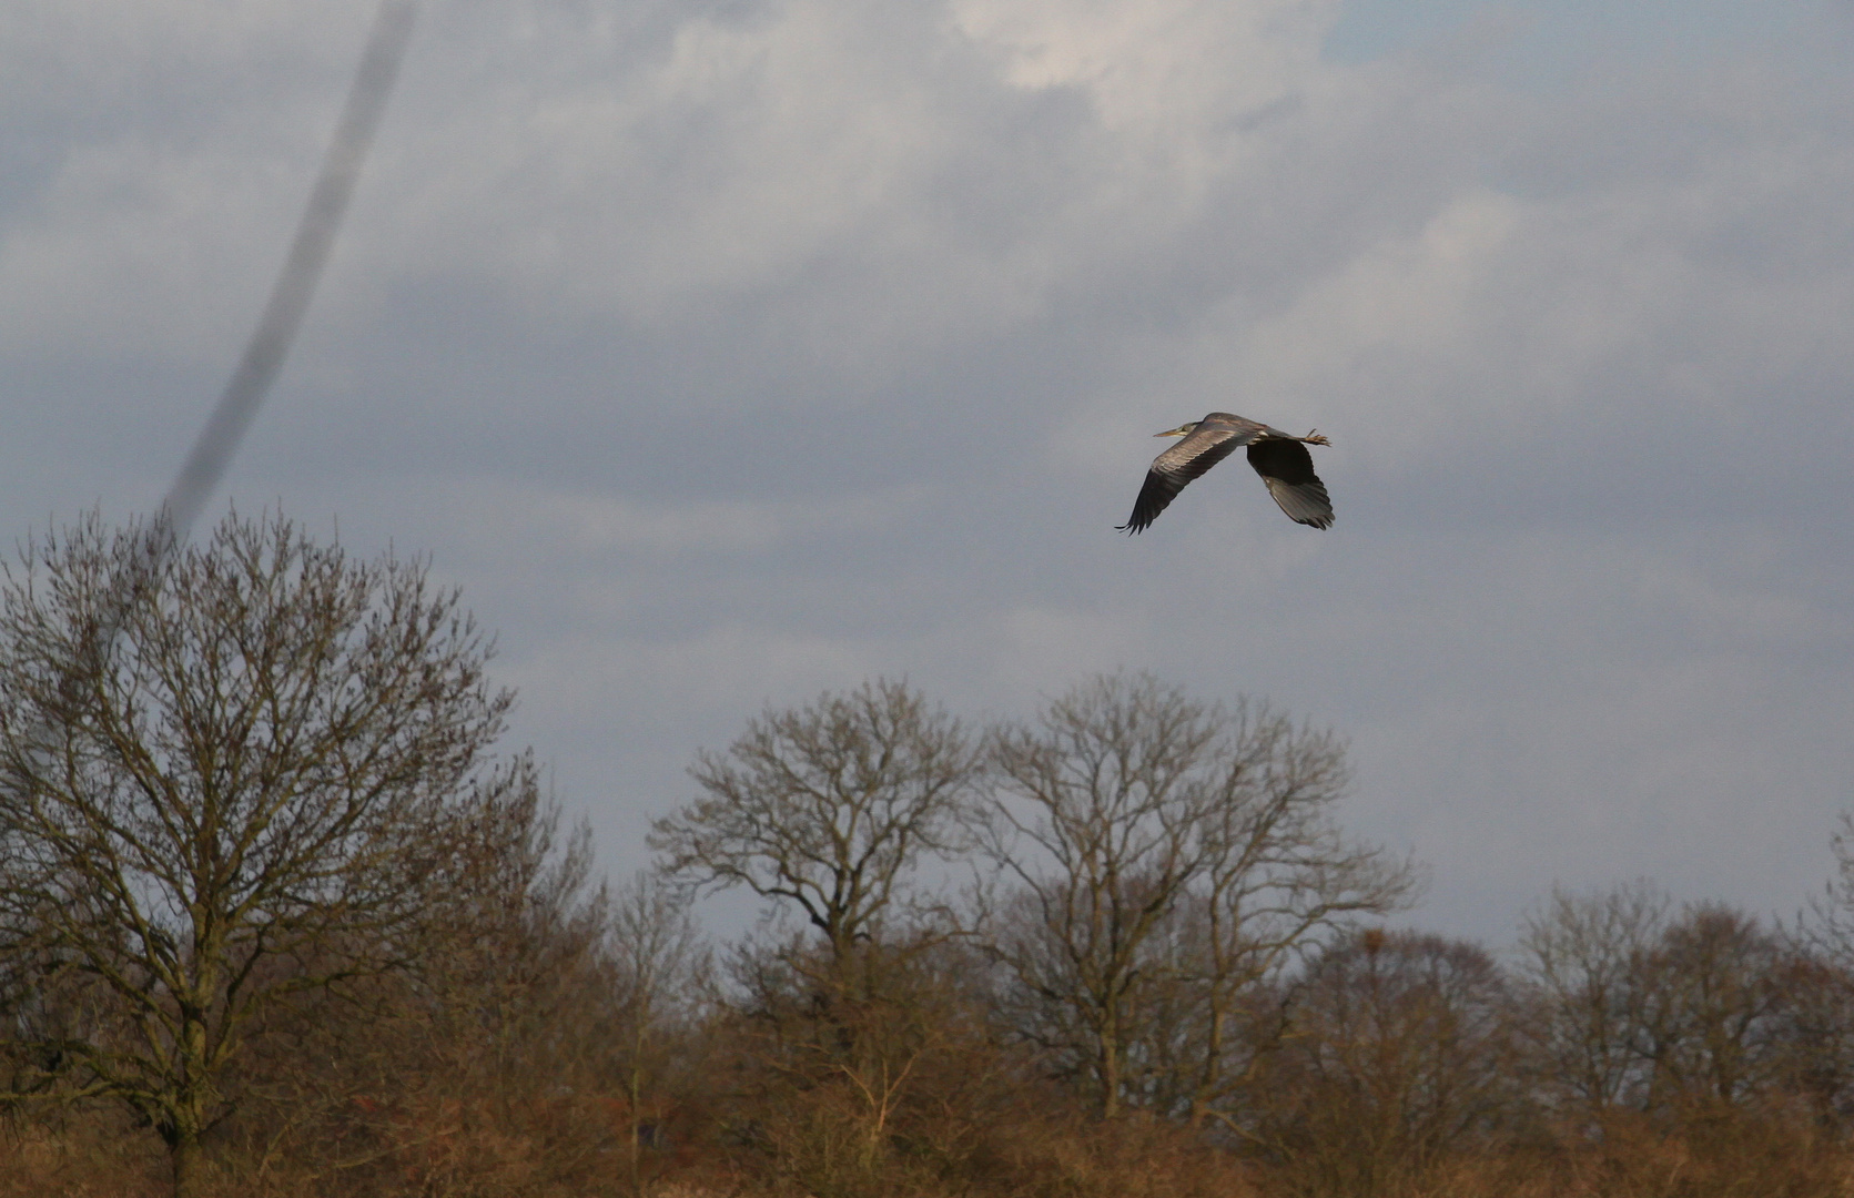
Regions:
<instances>
[{"instance_id":1,"label":"spreading bare tree with two pale trunks, below the flying heron","mask_svg":"<svg viewBox=\"0 0 1854 1198\"><path fill-rule=\"evenodd\" d=\"M1353 912L1396 907L1409 866L1348 842L1327 733L1107 675L990 738L984 849L1016 898L994 951L1014 1026L1125 1102L1203 1120L1242 1074L1255 985ZM1233 1068L1235 1066L1235 1068Z\"/></svg>"}]
</instances>

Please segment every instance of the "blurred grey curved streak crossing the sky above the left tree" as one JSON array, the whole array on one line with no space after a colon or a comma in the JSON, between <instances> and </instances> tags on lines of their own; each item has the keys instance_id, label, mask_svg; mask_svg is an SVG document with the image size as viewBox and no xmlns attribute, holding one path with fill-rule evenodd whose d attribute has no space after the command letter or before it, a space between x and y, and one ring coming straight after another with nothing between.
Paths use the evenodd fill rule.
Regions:
<instances>
[{"instance_id":1,"label":"blurred grey curved streak crossing the sky above the left tree","mask_svg":"<svg viewBox=\"0 0 1854 1198\"><path fill-rule=\"evenodd\" d=\"M297 239L289 247L284 273L276 278L271 300L263 306L258 328L245 345L237 369L226 384L219 404L213 408L206 428L193 443L180 477L161 501L161 514L156 527L165 525L167 543L185 540L187 530L198 517L200 508L211 497L213 488L232 464L245 430L263 404L263 397L276 382L284 367L284 356L302 328L302 313L310 308L315 284L328 265L328 250L336 243L341 217L354 197L354 184L360 180L362 163L373 135L380 130L380 117L386 113L386 100L393 93L393 80L399 65L406 57L412 43L412 26L419 15L419 0L382 0L380 11L367 35L367 48L354 74L354 87L349 91L341 121L336 124L334 141L323 158L323 171L310 191L310 206L302 213Z\"/></svg>"}]
</instances>

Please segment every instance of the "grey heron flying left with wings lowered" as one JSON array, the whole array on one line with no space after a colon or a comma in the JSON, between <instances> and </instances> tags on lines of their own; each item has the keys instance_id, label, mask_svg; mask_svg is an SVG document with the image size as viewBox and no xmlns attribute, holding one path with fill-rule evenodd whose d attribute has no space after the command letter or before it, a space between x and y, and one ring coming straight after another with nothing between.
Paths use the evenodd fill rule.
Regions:
<instances>
[{"instance_id":1,"label":"grey heron flying left with wings lowered","mask_svg":"<svg viewBox=\"0 0 1854 1198\"><path fill-rule=\"evenodd\" d=\"M1118 525L1127 532L1144 532L1187 482L1233 454L1238 445L1248 445L1250 465L1268 484L1268 493L1289 519L1314 529L1333 523L1333 501L1326 495L1326 484L1313 473L1313 454L1307 452L1309 445L1331 445L1318 432L1298 438L1240 415L1213 412L1201 421L1153 436L1185 440L1153 458L1151 469L1146 471L1146 486L1133 501L1133 516Z\"/></svg>"}]
</instances>

